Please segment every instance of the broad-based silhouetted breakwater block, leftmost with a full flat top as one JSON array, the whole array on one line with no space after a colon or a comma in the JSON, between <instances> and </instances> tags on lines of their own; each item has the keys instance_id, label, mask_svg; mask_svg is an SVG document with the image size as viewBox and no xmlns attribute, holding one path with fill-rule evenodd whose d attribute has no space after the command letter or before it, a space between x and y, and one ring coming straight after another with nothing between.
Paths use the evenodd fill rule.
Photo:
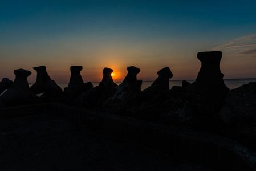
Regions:
<instances>
[{"instance_id":1,"label":"broad-based silhouetted breakwater block, leftmost with a full flat top","mask_svg":"<svg viewBox=\"0 0 256 171\"><path fill-rule=\"evenodd\" d=\"M31 71L18 69L14 70L14 74L16 77L13 84L0 96L0 106L5 107L38 102L39 97L29 89L29 83L27 82L27 77L31 75Z\"/></svg>"}]
</instances>

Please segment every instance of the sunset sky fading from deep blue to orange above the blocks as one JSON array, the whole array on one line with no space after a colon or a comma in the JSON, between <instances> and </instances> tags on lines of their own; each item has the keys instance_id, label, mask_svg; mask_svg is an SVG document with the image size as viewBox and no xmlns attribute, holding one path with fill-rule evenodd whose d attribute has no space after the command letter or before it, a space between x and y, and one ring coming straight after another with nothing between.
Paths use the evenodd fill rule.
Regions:
<instances>
[{"instance_id":1,"label":"sunset sky fading from deep blue to orange above the blocks","mask_svg":"<svg viewBox=\"0 0 256 171\"><path fill-rule=\"evenodd\" d=\"M224 78L256 78L256 1L13 1L0 0L0 79L14 70L46 66L68 83L70 66L84 82L100 82L104 67L123 81L155 80L169 67L172 80L196 79L197 53L222 51Z\"/></svg>"}]
</instances>

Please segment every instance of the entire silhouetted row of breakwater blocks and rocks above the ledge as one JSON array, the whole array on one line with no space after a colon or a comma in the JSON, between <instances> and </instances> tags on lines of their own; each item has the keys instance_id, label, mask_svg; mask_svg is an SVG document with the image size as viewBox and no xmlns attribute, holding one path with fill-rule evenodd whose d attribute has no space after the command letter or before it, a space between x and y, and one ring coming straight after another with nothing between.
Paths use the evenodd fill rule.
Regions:
<instances>
[{"instance_id":1,"label":"entire silhouetted row of breakwater blocks and rocks above the ledge","mask_svg":"<svg viewBox=\"0 0 256 171\"><path fill-rule=\"evenodd\" d=\"M45 101L76 105L138 119L174 124L229 136L253 148L256 143L256 83L249 83L230 91L220 70L221 51L198 52L202 63L196 81L182 81L182 87L169 89L173 74L169 67L157 72L150 87L141 92L140 69L127 68L127 76L117 86L111 68L103 69L99 86L84 83L82 66L71 66L71 77L64 92L51 80L45 66L34 67L36 82L29 88L26 70L15 70L12 83L0 82L0 107L32 104ZM10 86L11 85L11 86ZM35 94L44 93L41 97ZM43 99L43 100L42 100ZM256 149L256 148L254 148Z\"/></svg>"}]
</instances>

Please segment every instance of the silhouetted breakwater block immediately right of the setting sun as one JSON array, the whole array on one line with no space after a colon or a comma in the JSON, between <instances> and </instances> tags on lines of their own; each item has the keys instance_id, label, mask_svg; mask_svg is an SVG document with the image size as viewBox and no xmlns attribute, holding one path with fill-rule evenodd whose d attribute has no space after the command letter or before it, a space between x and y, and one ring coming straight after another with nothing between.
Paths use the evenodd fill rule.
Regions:
<instances>
[{"instance_id":1,"label":"silhouetted breakwater block immediately right of the setting sun","mask_svg":"<svg viewBox=\"0 0 256 171\"><path fill-rule=\"evenodd\" d=\"M139 68L127 67L128 74L123 83L115 87L116 91L107 99L105 108L111 112L120 112L139 103L142 80L137 80Z\"/></svg>"}]
</instances>

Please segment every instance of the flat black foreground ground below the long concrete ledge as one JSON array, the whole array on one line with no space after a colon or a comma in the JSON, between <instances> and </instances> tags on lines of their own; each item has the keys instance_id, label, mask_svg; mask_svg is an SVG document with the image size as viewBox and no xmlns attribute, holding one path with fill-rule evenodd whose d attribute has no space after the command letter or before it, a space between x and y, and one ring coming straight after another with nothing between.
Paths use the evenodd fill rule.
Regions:
<instances>
[{"instance_id":1,"label":"flat black foreground ground below the long concrete ledge","mask_svg":"<svg viewBox=\"0 0 256 171\"><path fill-rule=\"evenodd\" d=\"M0 120L0 170L210 170L50 112Z\"/></svg>"}]
</instances>

